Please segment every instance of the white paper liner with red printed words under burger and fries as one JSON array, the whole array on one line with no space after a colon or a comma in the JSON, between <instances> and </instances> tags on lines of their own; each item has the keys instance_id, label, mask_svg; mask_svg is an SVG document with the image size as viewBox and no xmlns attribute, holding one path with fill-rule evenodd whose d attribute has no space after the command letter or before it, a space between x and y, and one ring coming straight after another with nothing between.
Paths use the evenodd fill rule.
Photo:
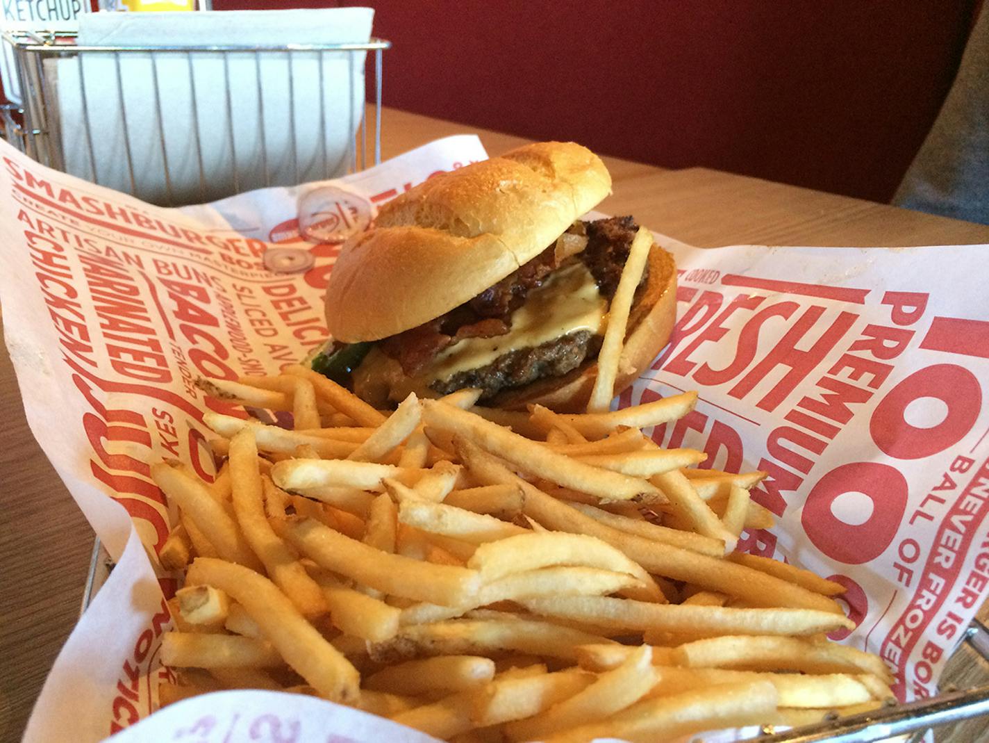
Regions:
<instances>
[{"instance_id":1,"label":"white paper liner with red printed words under burger and fries","mask_svg":"<svg viewBox=\"0 0 989 743\"><path fill-rule=\"evenodd\" d=\"M275 372L325 337L322 292L339 245L306 242L297 222L319 184L169 210L6 144L0 155L0 290L28 420L118 561L59 655L26 740L122 730L122 740L424 740L328 702L260 692L187 700L128 730L170 676L157 654L169 626L162 588L174 579L154 555L175 513L147 462L177 457L210 479L203 413L234 409L205 400L195 379ZM477 138L442 139L335 181L337 219L355 221L359 195L381 204L484 157ZM680 270L679 320L619 404L698 390L696 411L654 438L706 451L704 466L767 471L753 495L778 524L744 533L742 546L845 585L856 629L836 638L879 653L899 697L934 694L989 581L987 246L658 239ZM269 272L266 253L286 248L313 267Z\"/></svg>"}]
</instances>

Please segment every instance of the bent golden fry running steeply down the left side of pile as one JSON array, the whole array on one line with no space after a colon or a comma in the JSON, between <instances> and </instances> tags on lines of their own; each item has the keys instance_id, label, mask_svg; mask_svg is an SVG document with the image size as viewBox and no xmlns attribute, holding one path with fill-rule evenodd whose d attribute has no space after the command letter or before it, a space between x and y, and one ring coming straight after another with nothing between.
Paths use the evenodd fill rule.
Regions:
<instances>
[{"instance_id":1,"label":"bent golden fry running steeply down the left side of pile","mask_svg":"<svg viewBox=\"0 0 989 743\"><path fill-rule=\"evenodd\" d=\"M230 439L230 484L237 523L264 569L303 616L318 620L329 607L315 581L272 529L264 512L261 471L254 432L245 428Z\"/></svg>"}]
</instances>

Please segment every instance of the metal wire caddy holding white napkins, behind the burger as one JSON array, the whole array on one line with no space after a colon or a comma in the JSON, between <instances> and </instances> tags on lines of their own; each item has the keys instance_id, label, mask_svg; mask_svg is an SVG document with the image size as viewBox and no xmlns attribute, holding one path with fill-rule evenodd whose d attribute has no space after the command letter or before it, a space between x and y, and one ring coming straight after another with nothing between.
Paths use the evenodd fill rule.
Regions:
<instances>
[{"instance_id":1,"label":"metal wire caddy holding white napkins, behind the burger","mask_svg":"<svg viewBox=\"0 0 989 743\"><path fill-rule=\"evenodd\" d=\"M3 38L23 93L23 106L2 107L5 138L49 167L152 204L213 201L381 161L387 41L148 47L78 46L74 33L59 32ZM135 105L135 86L146 106Z\"/></svg>"}]
</instances>

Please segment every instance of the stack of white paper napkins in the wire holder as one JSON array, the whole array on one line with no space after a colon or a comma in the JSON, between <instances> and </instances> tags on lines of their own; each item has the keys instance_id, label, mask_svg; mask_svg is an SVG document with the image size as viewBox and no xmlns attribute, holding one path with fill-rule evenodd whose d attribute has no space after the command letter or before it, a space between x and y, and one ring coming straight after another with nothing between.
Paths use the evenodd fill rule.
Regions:
<instances>
[{"instance_id":1,"label":"stack of white paper napkins in the wire holder","mask_svg":"<svg viewBox=\"0 0 989 743\"><path fill-rule=\"evenodd\" d=\"M357 44L369 40L373 17L371 8L98 13L80 19L79 44ZM56 90L64 153L55 164L159 204L340 175L364 112L364 57L131 51L51 60L46 75Z\"/></svg>"}]
</instances>

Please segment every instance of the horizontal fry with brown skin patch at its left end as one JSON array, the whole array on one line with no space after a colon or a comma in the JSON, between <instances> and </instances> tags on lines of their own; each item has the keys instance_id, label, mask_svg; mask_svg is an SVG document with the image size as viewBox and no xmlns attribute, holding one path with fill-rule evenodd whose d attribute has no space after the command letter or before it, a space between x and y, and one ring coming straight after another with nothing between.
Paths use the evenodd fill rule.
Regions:
<instances>
[{"instance_id":1,"label":"horizontal fry with brown skin patch at its left end","mask_svg":"<svg viewBox=\"0 0 989 743\"><path fill-rule=\"evenodd\" d=\"M487 655L516 652L548 658L576 660L581 645L607 644L610 640L580 629L545 621L516 618L451 619L409 624L391 642L372 646L372 657L407 658L415 655Z\"/></svg>"}]
</instances>

